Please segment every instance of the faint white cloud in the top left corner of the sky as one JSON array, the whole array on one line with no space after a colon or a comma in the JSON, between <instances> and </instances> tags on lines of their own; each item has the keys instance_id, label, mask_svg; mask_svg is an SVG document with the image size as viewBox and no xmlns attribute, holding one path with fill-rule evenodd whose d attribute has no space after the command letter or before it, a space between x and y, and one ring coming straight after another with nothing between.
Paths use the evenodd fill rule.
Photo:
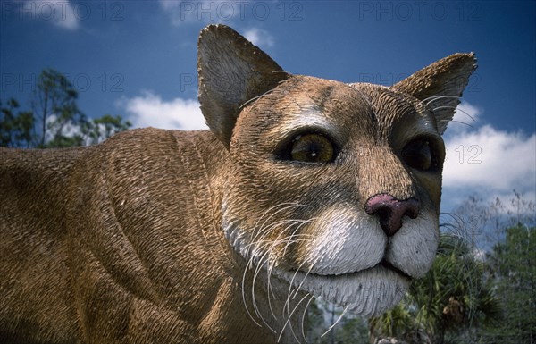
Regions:
<instances>
[{"instance_id":1,"label":"faint white cloud in the top left corner of the sky","mask_svg":"<svg viewBox=\"0 0 536 344\"><path fill-rule=\"evenodd\" d=\"M24 18L50 21L62 29L75 30L80 27L75 9L67 0L26 0L20 11Z\"/></svg>"}]
</instances>

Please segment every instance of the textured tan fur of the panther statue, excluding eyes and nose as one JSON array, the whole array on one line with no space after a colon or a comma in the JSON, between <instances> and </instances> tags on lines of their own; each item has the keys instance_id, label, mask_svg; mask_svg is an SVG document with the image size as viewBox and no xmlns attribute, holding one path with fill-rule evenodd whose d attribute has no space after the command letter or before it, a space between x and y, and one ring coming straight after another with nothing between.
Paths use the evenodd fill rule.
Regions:
<instances>
[{"instance_id":1,"label":"textured tan fur of the panther statue, excluding eyes and nose","mask_svg":"<svg viewBox=\"0 0 536 344\"><path fill-rule=\"evenodd\" d=\"M392 88L347 85L282 72L232 29L210 26L198 68L212 131L0 149L2 343L292 342L313 296L378 313L430 267L440 169L415 171L401 149L426 135L442 163L454 113L445 106L458 104L472 54ZM456 98L437 98L434 111L429 96ZM336 141L335 161L274 155L304 126ZM389 240L364 210L387 193L422 205ZM431 239L406 245L415 236ZM369 261L369 249L381 256ZM380 259L395 270L372 267ZM371 290L354 288L362 283ZM355 290L334 291L345 288Z\"/></svg>"}]
</instances>

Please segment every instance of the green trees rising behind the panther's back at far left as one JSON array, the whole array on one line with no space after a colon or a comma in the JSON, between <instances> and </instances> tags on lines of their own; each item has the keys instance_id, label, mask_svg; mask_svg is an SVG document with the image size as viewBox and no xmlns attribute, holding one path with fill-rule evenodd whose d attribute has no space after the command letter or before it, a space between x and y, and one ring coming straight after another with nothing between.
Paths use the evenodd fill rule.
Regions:
<instances>
[{"instance_id":1,"label":"green trees rising behind the panther's back at far left","mask_svg":"<svg viewBox=\"0 0 536 344\"><path fill-rule=\"evenodd\" d=\"M131 127L121 115L105 114L88 119L80 111L77 99L78 92L62 73L52 69L42 71L31 101L33 111L21 111L13 98L5 106L0 103L0 146L94 145Z\"/></svg>"}]
</instances>

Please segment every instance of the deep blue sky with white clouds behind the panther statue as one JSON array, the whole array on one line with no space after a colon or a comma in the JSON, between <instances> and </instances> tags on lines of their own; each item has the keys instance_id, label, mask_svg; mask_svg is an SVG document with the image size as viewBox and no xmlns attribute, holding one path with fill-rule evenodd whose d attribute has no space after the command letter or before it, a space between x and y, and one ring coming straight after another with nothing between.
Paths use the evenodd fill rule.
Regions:
<instances>
[{"instance_id":1,"label":"deep blue sky with white clouds behind the panther statue","mask_svg":"<svg viewBox=\"0 0 536 344\"><path fill-rule=\"evenodd\" d=\"M450 1L9 1L0 99L23 106L40 71L63 72L90 117L195 129L197 35L237 29L286 71L390 85L456 52L479 68L446 133L443 210L467 195L536 195L536 5ZM473 122L464 115L473 116Z\"/></svg>"}]
</instances>

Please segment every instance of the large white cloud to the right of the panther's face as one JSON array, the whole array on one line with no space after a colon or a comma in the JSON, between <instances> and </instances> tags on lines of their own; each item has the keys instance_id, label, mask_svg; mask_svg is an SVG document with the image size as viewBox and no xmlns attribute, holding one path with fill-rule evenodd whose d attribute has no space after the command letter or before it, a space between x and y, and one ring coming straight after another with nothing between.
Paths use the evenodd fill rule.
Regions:
<instances>
[{"instance_id":1,"label":"large white cloud to the right of the panther's face","mask_svg":"<svg viewBox=\"0 0 536 344\"><path fill-rule=\"evenodd\" d=\"M454 120L473 126L482 113L481 108L465 102L458 106ZM508 199L513 189L529 199L536 197L535 133L508 132L489 124L474 129L452 122L445 145L448 155L443 188L448 203L475 192L489 201L494 197Z\"/></svg>"}]
</instances>

